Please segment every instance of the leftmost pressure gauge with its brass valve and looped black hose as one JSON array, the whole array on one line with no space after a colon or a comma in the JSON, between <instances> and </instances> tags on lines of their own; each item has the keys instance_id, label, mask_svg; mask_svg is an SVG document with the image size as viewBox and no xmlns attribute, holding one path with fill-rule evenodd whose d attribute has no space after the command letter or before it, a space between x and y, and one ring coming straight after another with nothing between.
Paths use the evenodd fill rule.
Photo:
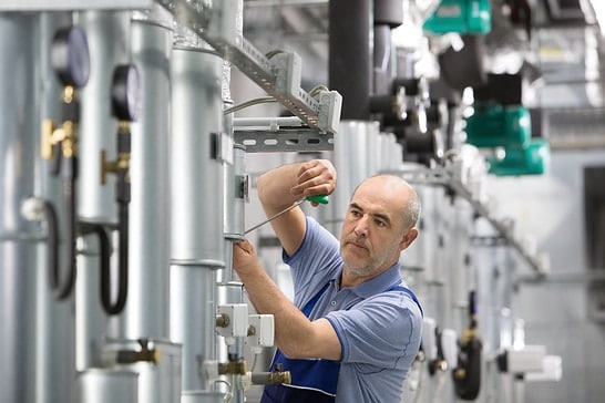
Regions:
<instances>
[{"instance_id":1,"label":"leftmost pressure gauge with its brass valve and looped black hose","mask_svg":"<svg viewBox=\"0 0 605 403\"><path fill-rule=\"evenodd\" d=\"M42 122L42 157L54 158L52 174L63 179L63 198L68 215L66 260L61 273L59 262L59 219L55 208L44 202L43 214L49 226L48 262L49 285L58 300L68 298L75 283L75 184L78 179L76 130L80 121L80 102L76 89L89 80L90 58L84 32L68 27L57 32L51 50L52 66L64 85L63 123L54 126L51 120Z\"/></svg>"}]
</instances>

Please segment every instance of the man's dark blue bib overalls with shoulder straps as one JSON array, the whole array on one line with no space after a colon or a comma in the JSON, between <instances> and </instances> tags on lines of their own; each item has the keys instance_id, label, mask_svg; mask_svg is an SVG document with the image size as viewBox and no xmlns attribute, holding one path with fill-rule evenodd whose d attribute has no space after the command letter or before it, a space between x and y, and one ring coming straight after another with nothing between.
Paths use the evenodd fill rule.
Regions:
<instances>
[{"instance_id":1,"label":"man's dark blue bib overalls with shoulder straps","mask_svg":"<svg viewBox=\"0 0 605 403\"><path fill-rule=\"evenodd\" d=\"M328 286L329 282L301 309L307 318L321 294L328 289ZM422 312L420 302L411 290L397 283L387 291L394 290L402 291L410 296ZM290 360L277 349L271 368L273 370L290 371L291 383L288 385L266 385L260 403L335 402L338 374L340 372L340 361L322 359Z\"/></svg>"}]
</instances>

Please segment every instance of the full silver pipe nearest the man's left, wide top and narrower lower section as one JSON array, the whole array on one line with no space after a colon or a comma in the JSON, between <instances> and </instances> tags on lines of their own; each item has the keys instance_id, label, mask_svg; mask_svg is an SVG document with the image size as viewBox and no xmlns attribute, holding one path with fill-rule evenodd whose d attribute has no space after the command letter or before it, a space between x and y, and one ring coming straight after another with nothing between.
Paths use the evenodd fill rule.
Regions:
<instances>
[{"instance_id":1,"label":"full silver pipe nearest the man's left, wide top and narrower lower section","mask_svg":"<svg viewBox=\"0 0 605 403\"><path fill-rule=\"evenodd\" d=\"M223 61L174 49L172 83L171 338L183 344L182 391L208 390L201 374L216 360L216 269L225 266ZM230 151L233 153L233 151Z\"/></svg>"}]
</instances>

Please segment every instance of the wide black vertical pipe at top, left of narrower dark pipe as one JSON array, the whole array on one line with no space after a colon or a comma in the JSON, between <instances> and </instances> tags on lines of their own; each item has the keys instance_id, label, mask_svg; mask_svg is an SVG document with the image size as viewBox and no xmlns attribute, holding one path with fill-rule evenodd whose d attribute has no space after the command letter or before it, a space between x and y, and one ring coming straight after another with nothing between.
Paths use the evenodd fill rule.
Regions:
<instances>
[{"instance_id":1,"label":"wide black vertical pipe at top, left of narrower dark pipe","mask_svg":"<svg viewBox=\"0 0 605 403\"><path fill-rule=\"evenodd\" d=\"M340 120L370 120L372 89L372 4L329 2L329 87L342 95Z\"/></svg>"}]
</instances>

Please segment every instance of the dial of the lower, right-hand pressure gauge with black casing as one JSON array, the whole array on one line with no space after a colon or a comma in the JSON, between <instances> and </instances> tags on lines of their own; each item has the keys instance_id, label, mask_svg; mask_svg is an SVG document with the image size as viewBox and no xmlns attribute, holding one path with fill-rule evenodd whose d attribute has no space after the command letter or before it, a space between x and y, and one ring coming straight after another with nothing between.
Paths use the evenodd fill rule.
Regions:
<instances>
[{"instance_id":1,"label":"dial of the lower, right-hand pressure gauge with black casing","mask_svg":"<svg viewBox=\"0 0 605 403\"><path fill-rule=\"evenodd\" d=\"M112 113L120 121L133 122L141 114L141 82L134 64L115 68L111 90Z\"/></svg>"}]
</instances>

